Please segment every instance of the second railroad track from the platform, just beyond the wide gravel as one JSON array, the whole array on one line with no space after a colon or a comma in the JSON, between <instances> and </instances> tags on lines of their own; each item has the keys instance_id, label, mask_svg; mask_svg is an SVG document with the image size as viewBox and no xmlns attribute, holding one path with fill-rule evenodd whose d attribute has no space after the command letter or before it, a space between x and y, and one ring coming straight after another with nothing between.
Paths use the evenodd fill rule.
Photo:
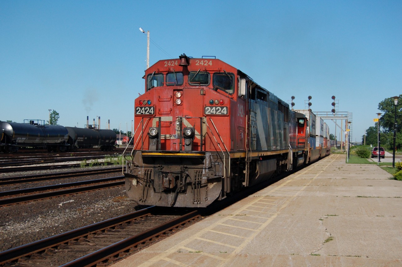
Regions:
<instances>
[{"instance_id":1,"label":"second railroad track from the platform, just beyond the wide gravel","mask_svg":"<svg viewBox=\"0 0 402 267\"><path fill-rule=\"evenodd\" d=\"M0 192L0 206L124 185L124 176Z\"/></svg>"}]
</instances>

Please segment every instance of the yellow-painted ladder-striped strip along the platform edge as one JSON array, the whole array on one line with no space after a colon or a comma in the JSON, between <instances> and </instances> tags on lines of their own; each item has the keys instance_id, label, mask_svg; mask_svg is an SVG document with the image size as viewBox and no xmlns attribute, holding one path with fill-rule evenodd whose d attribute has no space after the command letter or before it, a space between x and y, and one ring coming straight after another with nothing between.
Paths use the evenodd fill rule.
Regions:
<instances>
[{"instance_id":1,"label":"yellow-painted ladder-striped strip along the platform edge","mask_svg":"<svg viewBox=\"0 0 402 267\"><path fill-rule=\"evenodd\" d=\"M253 238L260 234L289 205L293 198L310 185L338 157L338 154L330 155L304 170L290 175L280 185L269 186L258 192L258 196L250 196L249 198L255 199L233 214L222 216L222 219L214 224L203 228L197 234L139 266L169 265L169 263L177 266L189 266L189 263L180 262L181 253L178 252L200 253L203 257L215 259L213 263L209 262L209 264L226 265ZM209 251L215 251L215 253L205 251L205 247L208 247ZM217 251L222 254L218 256Z\"/></svg>"}]
</instances>

